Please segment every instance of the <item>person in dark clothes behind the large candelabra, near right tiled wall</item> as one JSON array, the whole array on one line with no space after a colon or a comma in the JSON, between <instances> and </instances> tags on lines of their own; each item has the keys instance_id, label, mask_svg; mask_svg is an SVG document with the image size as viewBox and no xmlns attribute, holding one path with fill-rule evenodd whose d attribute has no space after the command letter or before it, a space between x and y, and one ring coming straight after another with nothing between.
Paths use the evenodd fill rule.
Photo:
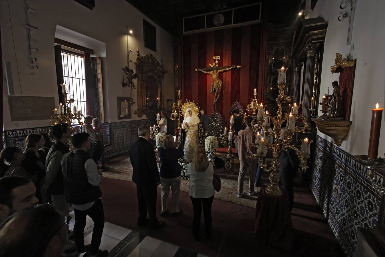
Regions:
<instances>
[{"instance_id":1,"label":"person in dark clothes behind the large candelabra, near right tiled wall","mask_svg":"<svg viewBox=\"0 0 385 257\"><path fill-rule=\"evenodd\" d=\"M296 146L297 141L293 139L292 145ZM290 211L293 209L294 203L294 189L293 180L300 166L300 160L298 159L295 151L288 148L286 151L282 151L280 155L280 171L278 175L281 178L283 190L288 195L288 202Z\"/></svg>"}]
</instances>

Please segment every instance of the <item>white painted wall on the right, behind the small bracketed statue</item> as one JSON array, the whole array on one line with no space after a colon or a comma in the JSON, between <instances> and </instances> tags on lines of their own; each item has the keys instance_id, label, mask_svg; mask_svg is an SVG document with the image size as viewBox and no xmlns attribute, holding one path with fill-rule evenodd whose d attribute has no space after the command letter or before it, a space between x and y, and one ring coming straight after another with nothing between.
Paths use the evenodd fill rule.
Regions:
<instances>
[{"instance_id":1,"label":"white painted wall on the right, behind the small bracketed statue","mask_svg":"<svg viewBox=\"0 0 385 257\"><path fill-rule=\"evenodd\" d=\"M334 65L335 53L341 53L344 58L348 54L357 59L355 81L353 87L352 112L353 121L348 137L342 142L341 149L352 155L367 155L369 144L372 109L378 102L385 105L385 1L384 0L354 0L356 9L353 23L352 44L346 45L349 20L338 21L340 1L318 0L313 11L310 0L306 0L306 18L323 17L328 23L325 40L325 51L322 61L320 95L327 93L332 79L339 74L331 74L330 66ZM321 115L319 113L318 115ZM380 134L378 156L385 153L385 112ZM333 139L318 131L318 134L328 141Z\"/></svg>"}]
</instances>

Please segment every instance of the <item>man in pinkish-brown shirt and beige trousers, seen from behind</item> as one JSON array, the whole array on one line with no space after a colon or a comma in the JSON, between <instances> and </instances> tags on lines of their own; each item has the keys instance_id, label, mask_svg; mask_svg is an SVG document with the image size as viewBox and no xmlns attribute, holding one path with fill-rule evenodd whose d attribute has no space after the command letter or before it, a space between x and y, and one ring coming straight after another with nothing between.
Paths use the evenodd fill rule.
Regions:
<instances>
[{"instance_id":1,"label":"man in pinkish-brown shirt and beige trousers, seen from behind","mask_svg":"<svg viewBox=\"0 0 385 257\"><path fill-rule=\"evenodd\" d=\"M238 176L238 197L243 197L243 181L246 171L249 171L249 195L255 195L254 180L257 161L246 157L247 148L255 142L255 132L251 128L253 117L246 118L246 129L238 133L238 150L239 150L239 176Z\"/></svg>"}]
</instances>

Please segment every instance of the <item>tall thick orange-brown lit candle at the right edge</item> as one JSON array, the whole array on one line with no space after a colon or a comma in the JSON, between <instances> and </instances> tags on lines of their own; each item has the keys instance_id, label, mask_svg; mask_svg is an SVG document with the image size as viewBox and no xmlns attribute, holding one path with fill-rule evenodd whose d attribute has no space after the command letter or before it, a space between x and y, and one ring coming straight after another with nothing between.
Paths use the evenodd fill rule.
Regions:
<instances>
[{"instance_id":1,"label":"tall thick orange-brown lit candle at the right edge","mask_svg":"<svg viewBox=\"0 0 385 257\"><path fill-rule=\"evenodd\" d=\"M372 110L372 124L370 125L368 148L369 159L378 158L378 143L380 142L382 110L383 108L378 108L378 104L376 104L376 108Z\"/></svg>"}]
</instances>

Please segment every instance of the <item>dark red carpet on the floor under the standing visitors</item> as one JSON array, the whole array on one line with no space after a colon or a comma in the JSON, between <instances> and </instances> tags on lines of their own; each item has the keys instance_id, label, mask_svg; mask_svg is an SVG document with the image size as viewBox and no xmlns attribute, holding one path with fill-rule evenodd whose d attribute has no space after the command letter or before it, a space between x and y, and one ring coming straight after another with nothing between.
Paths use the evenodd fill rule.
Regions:
<instances>
[{"instance_id":1,"label":"dark red carpet on the floor under the standing visitors","mask_svg":"<svg viewBox=\"0 0 385 257\"><path fill-rule=\"evenodd\" d=\"M109 160L109 162L111 161ZM183 211L181 215L178 217L160 217L158 215L158 219L166 222L166 226L158 230L150 230L136 225L138 213L135 183L104 178L101 188L107 222L139 231L204 255L344 256L310 190L300 185L298 179L295 180L294 208L291 214L295 237L292 252L261 245L254 239L252 233L254 208L214 199L212 206L213 235L210 240L204 237L202 214L201 240L196 241L191 234L192 205L188 193L181 192L180 194L179 208ZM170 198L169 210L171 204ZM160 188L158 188L158 213L160 213L160 209Z\"/></svg>"}]
</instances>

